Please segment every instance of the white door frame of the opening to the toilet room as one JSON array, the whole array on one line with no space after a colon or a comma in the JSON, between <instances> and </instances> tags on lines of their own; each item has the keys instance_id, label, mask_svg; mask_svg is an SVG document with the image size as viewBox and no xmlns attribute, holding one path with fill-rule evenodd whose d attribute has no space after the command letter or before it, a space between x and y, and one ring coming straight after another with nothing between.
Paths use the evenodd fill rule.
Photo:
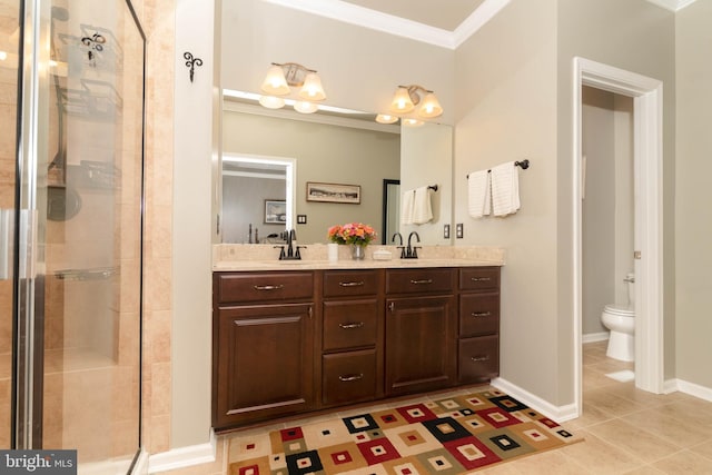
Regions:
<instances>
[{"instance_id":1,"label":"white door frame of the opening to the toilet room","mask_svg":"<svg viewBox=\"0 0 712 475\"><path fill-rule=\"evenodd\" d=\"M635 386L661 394L663 359L663 83L635 72L574 58L573 318L574 395L582 405L582 92L583 86L633 98ZM633 256L632 256L633 257Z\"/></svg>"}]
</instances>

